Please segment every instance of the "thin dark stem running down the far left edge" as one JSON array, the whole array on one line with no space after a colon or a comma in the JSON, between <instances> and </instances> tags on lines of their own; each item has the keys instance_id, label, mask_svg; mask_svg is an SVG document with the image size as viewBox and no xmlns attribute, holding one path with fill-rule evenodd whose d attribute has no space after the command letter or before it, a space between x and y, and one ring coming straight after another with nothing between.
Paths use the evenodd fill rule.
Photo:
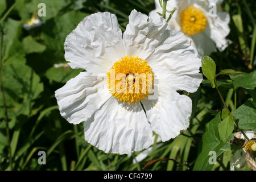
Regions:
<instances>
[{"instance_id":1,"label":"thin dark stem running down the far left edge","mask_svg":"<svg viewBox=\"0 0 256 182\"><path fill-rule=\"evenodd\" d=\"M9 160L10 160L10 169L13 168L13 159L11 155L11 140L10 140L10 130L9 130L9 117L7 114L7 107L5 102L5 93L3 92L3 55L2 55L2 49L3 49L3 35L5 35L5 32L3 32L2 25L0 23L0 29L1 29L1 44L0 44L0 90L1 90L1 97L3 101L3 109L5 111L5 120L6 120L6 135L8 140L8 150L9 150Z\"/></svg>"}]
</instances>

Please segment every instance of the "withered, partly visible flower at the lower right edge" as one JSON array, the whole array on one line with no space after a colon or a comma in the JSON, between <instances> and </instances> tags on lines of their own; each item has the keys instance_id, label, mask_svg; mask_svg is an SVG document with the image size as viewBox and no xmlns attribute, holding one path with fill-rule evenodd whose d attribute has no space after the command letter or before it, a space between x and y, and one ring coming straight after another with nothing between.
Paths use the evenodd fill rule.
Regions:
<instances>
[{"instance_id":1,"label":"withered, partly visible flower at the lower right edge","mask_svg":"<svg viewBox=\"0 0 256 182\"><path fill-rule=\"evenodd\" d=\"M234 154L231 156L231 171L234 171L234 167L245 167L246 163L251 169L256 170L256 162L254 160L254 153L256 152L256 143L254 142L254 140L256 140L256 135L254 131L245 131L245 134L250 139L250 141L247 141L245 136L241 132L234 133L234 137L238 139L239 142L241 142L241 146L243 146L243 148L235 151Z\"/></svg>"}]
</instances>

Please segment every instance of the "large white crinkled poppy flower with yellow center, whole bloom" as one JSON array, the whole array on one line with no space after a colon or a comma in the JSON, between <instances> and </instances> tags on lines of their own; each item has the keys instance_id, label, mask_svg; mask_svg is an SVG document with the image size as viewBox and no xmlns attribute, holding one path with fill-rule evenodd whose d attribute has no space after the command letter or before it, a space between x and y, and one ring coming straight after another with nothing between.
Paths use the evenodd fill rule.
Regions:
<instances>
[{"instance_id":1,"label":"large white crinkled poppy flower with yellow center, whole bloom","mask_svg":"<svg viewBox=\"0 0 256 182\"><path fill-rule=\"evenodd\" d=\"M86 72L56 90L57 104L69 123L84 121L85 140L93 146L129 154L150 147L152 131L166 141L189 126L191 99L176 90L196 92L202 81L201 59L183 33L166 27L164 19L153 23L133 10L122 34L114 14L96 13L86 16L65 39L68 64ZM152 89L142 89L144 82L139 93L112 92L113 69L114 78L125 74L127 82L136 73L154 75L152 82L150 77L146 81L159 94L150 100ZM125 77L120 80L113 80L115 88Z\"/></svg>"}]
</instances>

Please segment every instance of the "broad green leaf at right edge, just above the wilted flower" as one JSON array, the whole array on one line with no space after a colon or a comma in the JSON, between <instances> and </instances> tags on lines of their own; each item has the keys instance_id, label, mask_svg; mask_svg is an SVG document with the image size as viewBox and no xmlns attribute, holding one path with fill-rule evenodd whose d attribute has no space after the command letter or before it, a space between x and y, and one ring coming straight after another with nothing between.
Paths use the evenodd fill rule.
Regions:
<instances>
[{"instance_id":1,"label":"broad green leaf at right edge, just above the wilted flower","mask_svg":"<svg viewBox=\"0 0 256 182\"><path fill-rule=\"evenodd\" d=\"M249 100L233 112L238 120L238 126L243 130L250 130L256 127L256 103Z\"/></svg>"}]
</instances>

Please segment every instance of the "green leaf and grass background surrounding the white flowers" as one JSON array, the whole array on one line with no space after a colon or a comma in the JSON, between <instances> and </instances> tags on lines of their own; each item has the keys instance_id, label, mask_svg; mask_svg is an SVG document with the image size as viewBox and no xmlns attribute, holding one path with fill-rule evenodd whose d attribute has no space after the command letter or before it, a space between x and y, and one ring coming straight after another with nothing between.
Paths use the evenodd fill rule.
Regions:
<instances>
[{"instance_id":1,"label":"green leaf and grass background surrounding the white flowers","mask_svg":"<svg viewBox=\"0 0 256 182\"><path fill-rule=\"evenodd\" d=\"M44 24L25 30L24 23L38 4L46 4ZM243 72L220 75L217 85L240 129L255 131L256 80L255 42L256 11L254 1L224 0L222 9L230 14L232 41L223 52L214 52L216 73L222 69ZM204 77L199 90L189 94L193 111L189 130L153 149L141 162L135 156L105 154L84 140L84 129L60 116L54 96L81 69L56 68L67 63L64 40L87 15L109 11L117 15L125 31L131 10L148 14L155 9L154 0L0 0L0 23L3 32L2 93L0 98L0 170L143 170L144 163L168 158L147 166L147 170L229 170L233 150L230 146L232 114L224 105L213 80ZM203 73L203 72L202 72ZM213 73L215 75L215 72ZM185 93L184 93L185 94ZM221 112L222 111L222 112ZM231 121L231 122L230 122ZM8 125L6 125L8 122ZM38 152L46 151L46 165L38 164ZM210 150L217 151L217 164L208 163ZM250 170L245 166L242 170Z\"/></svg>"}]
</instances>

